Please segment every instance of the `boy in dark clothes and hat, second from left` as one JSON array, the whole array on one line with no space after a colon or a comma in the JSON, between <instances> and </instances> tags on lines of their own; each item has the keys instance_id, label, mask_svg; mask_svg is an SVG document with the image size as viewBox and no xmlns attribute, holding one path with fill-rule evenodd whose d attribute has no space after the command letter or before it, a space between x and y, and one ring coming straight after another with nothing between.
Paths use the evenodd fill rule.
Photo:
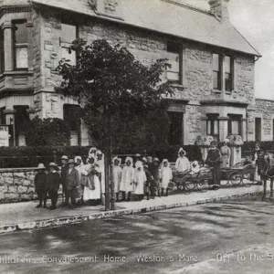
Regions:
<instances>
[{"instance_id":1,"label":"boy in dark clothes and hat, second from left","mask_svg":"<svg viewBox=\"0 0 274 274\"><path fill-rule=\"evenodd\" d=\"M57 209L58 189L60 183L60 176L58 174L58 165L56 163L49 163L49 173L47 174L47 191L51 200L50 210ZM46 206L46 205L45 205Z\"/></svg>"}]
</instances>

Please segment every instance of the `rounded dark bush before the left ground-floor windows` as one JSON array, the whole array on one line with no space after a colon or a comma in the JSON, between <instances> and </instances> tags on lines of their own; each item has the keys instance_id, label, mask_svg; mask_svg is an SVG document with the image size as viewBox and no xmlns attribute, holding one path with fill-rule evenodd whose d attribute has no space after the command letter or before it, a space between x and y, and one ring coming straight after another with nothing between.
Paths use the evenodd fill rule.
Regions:
<instances>
[{"instance_id":1,"label":"rounded dark bush before the left ground-floor windows","mask_svg":"<svg viewBox=\"0 0 274 274\"><path fill-rule=\"evenodd\" d=\"M24 127L27 146L68 145L70 129L68 123L58 118L44 120L36 117L27 121Z\"/></svg>"}]
</instances>

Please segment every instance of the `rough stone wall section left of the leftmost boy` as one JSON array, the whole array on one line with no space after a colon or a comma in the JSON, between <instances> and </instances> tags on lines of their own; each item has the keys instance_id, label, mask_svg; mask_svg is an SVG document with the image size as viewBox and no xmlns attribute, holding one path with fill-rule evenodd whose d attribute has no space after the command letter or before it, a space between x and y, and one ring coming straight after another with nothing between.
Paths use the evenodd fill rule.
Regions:
<instances>
[{"instance_id":1,"label":"rough stone wall section left of the leftmost boy","mask_svg":"<svg viewBox=\"0 0 274 274\"><path fill-rule=\"evenodd\" d=\"M37 199L34 178L36 168L0 169L0 203Z\"/></svg>"}]
</instances>

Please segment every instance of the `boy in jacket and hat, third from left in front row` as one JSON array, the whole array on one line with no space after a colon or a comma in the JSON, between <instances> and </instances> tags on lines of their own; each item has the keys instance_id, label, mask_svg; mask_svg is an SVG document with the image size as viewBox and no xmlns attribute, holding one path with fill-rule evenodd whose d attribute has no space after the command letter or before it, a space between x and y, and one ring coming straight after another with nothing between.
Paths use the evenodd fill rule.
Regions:
<instances>
[{"instance_id":1,"label":"boy in jacket and hat, third from left in front row","mask_svg":"<svg viewBox=\"0 0 274 274\"><path fill-rule=\"evenodd\" d=\"M67 190L68 190L68 208L73 209L76 205L75 195L79 187L79 173L75 168L76 163L73 159L68 160L67 171ZM69 205L70 199L70 205Z\"/></svg>"}]
</instances>

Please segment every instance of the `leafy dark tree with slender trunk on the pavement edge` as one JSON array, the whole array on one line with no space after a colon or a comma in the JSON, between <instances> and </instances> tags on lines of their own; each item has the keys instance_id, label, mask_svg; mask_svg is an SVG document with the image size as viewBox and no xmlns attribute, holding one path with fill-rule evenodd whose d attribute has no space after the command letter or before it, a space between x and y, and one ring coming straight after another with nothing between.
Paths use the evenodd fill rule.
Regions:
<instances>
[{"instance_id":1,"label":"leafy dark tree with slender trunk on the pavement edge","mask_svg":"<svg viewBox=\"0 0 274 274\"><path fill-rule=\"evenodd\" d=\"M78 62L71 66L67 59L59 61L57 70L63 78L61 90L79 99L86 113L85 121L90 124L90 117L93 117L93 129L98 128L97 139L102 141L105 152L106 210L109 210L111 143L119 136L113 131L114 119L121 121L116 123L118 129L124 127L125 117L145 117L159 107L163 94L173 94L169 83L161 79L164 69L170 65L166 59L158 59L151 67L143 66L127 48L111 47L106 40L95 40L87 45L84 40L77 39L71 50L76 51ZM114 209L113 195L111 208Z\"/></svg>"}]
</instances>

